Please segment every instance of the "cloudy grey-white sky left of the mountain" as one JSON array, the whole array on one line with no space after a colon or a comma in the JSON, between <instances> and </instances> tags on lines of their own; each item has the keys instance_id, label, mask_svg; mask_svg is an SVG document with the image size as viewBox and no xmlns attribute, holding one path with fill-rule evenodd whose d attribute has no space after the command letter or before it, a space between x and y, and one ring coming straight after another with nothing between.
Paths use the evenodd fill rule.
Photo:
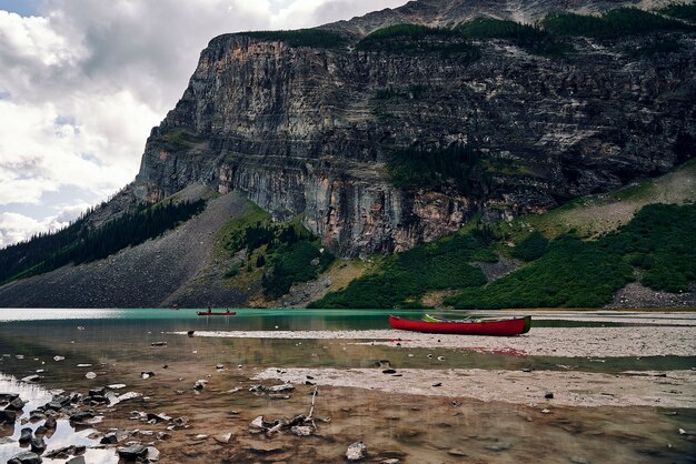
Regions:
<instances>
[{"instance_id":1,"label":"cloudy grey-white sky left of the mountain","mask_svg":"<svg viewBox=\"0 0 696 464\"><path fill-rule=\"evenodd\" d=\"M0 248L131 182L213 37L406 0L0 0Z\"/></svg>"}]
</instances>

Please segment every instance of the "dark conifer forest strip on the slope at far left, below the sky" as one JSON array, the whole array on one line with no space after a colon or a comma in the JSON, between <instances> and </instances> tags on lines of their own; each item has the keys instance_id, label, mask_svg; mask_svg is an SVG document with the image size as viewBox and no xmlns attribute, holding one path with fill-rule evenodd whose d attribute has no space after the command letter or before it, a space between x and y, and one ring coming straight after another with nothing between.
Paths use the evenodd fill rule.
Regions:
<instances>
[{"instance_id":1,"label":"dark conifer forest strip on the slope at far left, below the sky","mask_svg":"<svg viewBox=\"0 0 696 464\"><path fill-rule=\"evenodd\" d=\"M56 233L0 250L0 282L42 274L70 263L102 260L176 228L205 208L205 200L141 204L95 230L87 226L82 216Z\"/></svg>"}]
</instances>

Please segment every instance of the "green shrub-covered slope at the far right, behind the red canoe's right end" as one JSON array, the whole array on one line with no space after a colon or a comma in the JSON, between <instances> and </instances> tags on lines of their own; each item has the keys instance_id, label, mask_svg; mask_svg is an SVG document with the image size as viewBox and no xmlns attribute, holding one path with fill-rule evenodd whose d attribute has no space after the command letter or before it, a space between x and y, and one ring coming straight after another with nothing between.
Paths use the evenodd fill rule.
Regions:
<instances>
[{"instance_id":1,"label":"green shrub-covered slope at the far right, behind the red canoe's right end","mask_svg":"<svg viewBox=\"0 0 696 464\"><path fill-rule=\"evenodd\" d=\"M561 235L539 259L446 303L458 309L596 307L633 280L634 266L646 286L686 291L696 281L696 204L645 206L596 241Z\"/></svg>"}]
</instances>

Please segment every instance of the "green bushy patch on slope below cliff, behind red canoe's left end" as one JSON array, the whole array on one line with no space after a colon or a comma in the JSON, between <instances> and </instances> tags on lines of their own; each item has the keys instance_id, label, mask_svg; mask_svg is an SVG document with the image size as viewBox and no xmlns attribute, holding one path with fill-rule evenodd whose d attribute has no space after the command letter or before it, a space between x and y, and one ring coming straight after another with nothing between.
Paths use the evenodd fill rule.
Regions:
<instances>
[{"instance_id":1,"label":"green bushy patch on slope below cliff, behind red canoe's left end","mask_svg":"<svg viewBox=\"0 0 696 464\"><path fill-rule=\"evenodd\" d=\"M376 273L365 275L339 292L329 293L309 307L420 306L429 290L480 286L486 276L470 261L496 262L487 248L486 231L455 234L404 253L388 256Z\"/></svg>"}]
</instances>

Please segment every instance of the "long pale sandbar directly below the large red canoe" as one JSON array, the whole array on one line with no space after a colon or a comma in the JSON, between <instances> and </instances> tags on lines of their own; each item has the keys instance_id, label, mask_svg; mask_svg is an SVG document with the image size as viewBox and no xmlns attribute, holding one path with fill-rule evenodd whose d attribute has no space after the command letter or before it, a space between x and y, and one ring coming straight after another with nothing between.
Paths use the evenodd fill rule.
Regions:
<instances>
[{"instance_id":1,"label":"long pale sandbar directly below the large red canoe","mask_svg":"<svg viewBox=\"0 0 696 464\"><path fill-rule=\"evenodd\" d=\"M183 332L178 334L186 335ZM235 339L359 340L401 347L507 351L533 356L696 356L695 326L539 327L514 337L440 335L395 330L372 331L230 331L196 336ZM398 344L398 345L397 345Z\"/></svg>"}]
</instances>

